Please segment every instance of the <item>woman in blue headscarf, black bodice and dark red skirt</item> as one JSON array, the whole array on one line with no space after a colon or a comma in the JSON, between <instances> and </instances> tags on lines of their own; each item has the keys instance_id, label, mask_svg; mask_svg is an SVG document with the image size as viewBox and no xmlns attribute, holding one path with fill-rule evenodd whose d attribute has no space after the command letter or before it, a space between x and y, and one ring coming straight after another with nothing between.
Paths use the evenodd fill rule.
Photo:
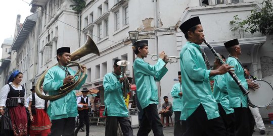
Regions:
<instances>
[{"instance_id":1,"label":"woman in blue headscarf, black bodice and dark red skirt","mask_svg":"<svg viewBox=\"0 0 273 136\"><path fill-rule=\"evenodd\" d=\"M28 107L25 89L20 84L23 74L18 70L13 72L8 83L0 90L1 133L9 135L27 135Z\"/></svg>"}]
</instances>

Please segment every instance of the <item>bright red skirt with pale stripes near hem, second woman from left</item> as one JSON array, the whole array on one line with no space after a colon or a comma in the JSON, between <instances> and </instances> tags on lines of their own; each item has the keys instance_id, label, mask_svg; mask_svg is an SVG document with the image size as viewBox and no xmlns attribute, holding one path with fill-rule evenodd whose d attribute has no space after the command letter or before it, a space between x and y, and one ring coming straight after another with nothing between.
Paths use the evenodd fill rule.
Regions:
<instances>
[{"instance_id":1,"label":"bright red skirt with pale stripes near hem, second woman from left","mask_svg":"<svg viewBox=\"0 0 273 136\"><path fill-rule=\"evenodd\" d=\"M36 109L36 114L32 115L33 121L30 123L29 134L45 134L50 133L51 122L47 112L44 109Z\"/></svg>"}]
</instances>

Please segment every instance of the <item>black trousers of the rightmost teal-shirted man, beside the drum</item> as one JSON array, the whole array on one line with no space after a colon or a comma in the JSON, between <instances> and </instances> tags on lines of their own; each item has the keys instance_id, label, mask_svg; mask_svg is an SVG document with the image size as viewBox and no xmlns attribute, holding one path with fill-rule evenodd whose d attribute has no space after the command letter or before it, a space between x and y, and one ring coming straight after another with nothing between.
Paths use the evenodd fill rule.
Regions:
<instances>
[{"instance_id":1,"label":"black trousers of the rightmost teal-shirted man, beside the drum","mask_svg":"<svg viewBox=\"0 0 273 136\"><path fill-rule=\"evenodd\" d=\"M250 109L239 107L234 108L235 113L235 135L251 136L253 133L255 120Z\"/></svg>"}]
</instances>

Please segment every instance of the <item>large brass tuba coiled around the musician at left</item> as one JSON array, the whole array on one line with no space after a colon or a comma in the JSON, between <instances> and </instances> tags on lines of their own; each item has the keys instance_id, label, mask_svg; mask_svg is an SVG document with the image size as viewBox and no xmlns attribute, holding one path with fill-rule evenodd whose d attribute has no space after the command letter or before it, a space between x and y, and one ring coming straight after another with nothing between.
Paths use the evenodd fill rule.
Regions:
<instances>
[{"instance_id":1,"label":"large brass tuba coiled around the musician at left","mask_svg":"<svg viewBox=\"0 0 273 136\"><path fill-rule=\"evenodd\" d=\"M61 87L59 89L59 93L54 96L43 95L40 92L40 88L43 83L45 74L47 74L48 70L51 67L58 64L58 63L56 63L53 66L51 66L49 69L47 69L45 72L43 72L41 77L38 79L37 84L35 86L35 92L36 92L37 96L40 97L41 99L44 99L44 100L56 100L56 99L59 99L59 98L65 96L69 92L71 92L76 86L79 85L79 83L84 79L84 76L86 74L86 67L84 67L84 69L83 69L84 72L83 72L83 74L81 74L81 72L80 72L81 65L78 62L75 62L74 60L77 60L89 53L95 53L97 55L100 55L100 51L99 51L96 43L93 41L92 38L90 38L90 36L87 35L86 42L80 48L78 48L77 50L75 50L74 52L71 53L71 57L70 57L71 61L70 61L70 64L68 65L68 67L71 67L71 66L78 67L78 71L74 75L74 79L73 79L74 82L72 84L65 84L63 87ZM77 78L75 78L75 77L77 77Z\"/></svg>"}]
</instances>

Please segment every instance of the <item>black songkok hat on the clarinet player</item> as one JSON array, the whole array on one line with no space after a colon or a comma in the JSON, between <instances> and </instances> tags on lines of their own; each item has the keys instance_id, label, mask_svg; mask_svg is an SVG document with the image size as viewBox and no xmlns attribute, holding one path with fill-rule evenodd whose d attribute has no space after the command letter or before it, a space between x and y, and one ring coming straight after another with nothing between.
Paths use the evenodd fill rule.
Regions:
<instances>
[{"instance_id":1,"label":"black songkok hat on the clarinet player","mask_svg":"<svg viewBox=\"0 0 273 136\"><path fill-rule=\"evenodd\" d=\"M196 25L201 25L199 17L193 17L185 21L179 26L179 29L186 34L190 28L196 26Z\"/></svg>"}]
</instances>

